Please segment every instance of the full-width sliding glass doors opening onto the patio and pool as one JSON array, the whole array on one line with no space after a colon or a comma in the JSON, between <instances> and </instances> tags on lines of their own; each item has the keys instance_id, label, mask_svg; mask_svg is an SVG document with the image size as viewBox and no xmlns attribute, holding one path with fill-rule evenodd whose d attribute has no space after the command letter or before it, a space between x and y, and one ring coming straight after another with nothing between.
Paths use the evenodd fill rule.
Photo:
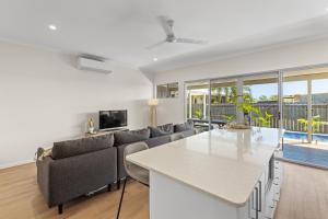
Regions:
<instances>
[{"instance_id":1,"label":"full-width sliding glass doors opening onto the patio and pool","mask_svg":"<svg viewBox=\"0 0 328 219\"><path fill-rule=\"evenodd\" d=\"M283 128L283 159L328 168L328 68L187 82L185 106L200 131L234 122Z\"/></svg>"}]
</instances>

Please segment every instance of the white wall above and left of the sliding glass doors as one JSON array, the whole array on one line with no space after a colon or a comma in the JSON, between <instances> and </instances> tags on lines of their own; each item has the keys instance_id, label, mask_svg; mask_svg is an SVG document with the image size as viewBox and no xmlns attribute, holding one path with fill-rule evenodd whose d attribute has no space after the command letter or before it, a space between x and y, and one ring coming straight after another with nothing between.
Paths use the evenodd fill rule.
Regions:
<instances>
[{"instance_id":1,"label":"white wall above and left of the sliding glass doors","mask_svg":"<svg viewBox=\"0 0 328 219\"><path fill-rule=\"evenodd\" d=\"M155 84L179 82L179 97L161 100L159 124L184 122L184 82L328 62L328 38L285 45L155 74Z\"/></svg>"}]
</instances>

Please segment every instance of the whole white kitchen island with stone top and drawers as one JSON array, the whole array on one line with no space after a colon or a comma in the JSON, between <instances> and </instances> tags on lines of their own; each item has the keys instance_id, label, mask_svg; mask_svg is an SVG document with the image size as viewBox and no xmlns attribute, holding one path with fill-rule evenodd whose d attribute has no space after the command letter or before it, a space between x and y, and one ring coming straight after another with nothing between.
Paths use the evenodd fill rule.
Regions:
<instances>
[{"instance_id":1,"label":"whole white kitchen island with stone top and drawers","mask_svg":"<svg viewBox=\"0 0 328 219\"><path fill-rule=\"evenodd\" d=\"M150 171L151 219L273 218L279 129L214 129L127 157Z\"/></svg>"}]
</instances>

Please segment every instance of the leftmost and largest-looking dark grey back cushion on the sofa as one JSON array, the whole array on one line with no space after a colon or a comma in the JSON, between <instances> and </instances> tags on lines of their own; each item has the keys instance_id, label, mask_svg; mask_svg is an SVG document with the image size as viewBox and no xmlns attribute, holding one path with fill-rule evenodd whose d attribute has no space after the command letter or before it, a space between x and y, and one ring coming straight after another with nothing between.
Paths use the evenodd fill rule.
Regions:
<instances>
[{"instance_id":1,"label":"leftmost and largest-looking dark grey back cushion on the sofa","mask_svg":"<svg viewBox=\"0 0 328 219\"><path fill-rule=\"evenodd\" d=\"M97 150L103 150L114 146L113 134L81 138L78 140L68 140L55 142L52 148L52 159L63 159Z\"/></svg>"}]
</instances>

